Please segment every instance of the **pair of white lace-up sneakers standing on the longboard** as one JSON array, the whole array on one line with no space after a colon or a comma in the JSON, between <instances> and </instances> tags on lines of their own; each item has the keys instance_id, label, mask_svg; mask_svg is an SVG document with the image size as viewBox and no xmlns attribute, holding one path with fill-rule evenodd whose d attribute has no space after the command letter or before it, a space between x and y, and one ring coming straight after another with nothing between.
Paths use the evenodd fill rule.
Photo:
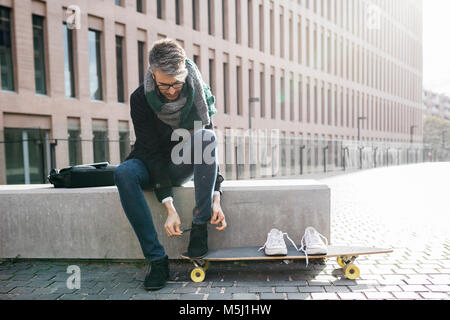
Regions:
<instances>
[{"instance_id":1,"label":"pair of white lace-up sneakers standing on the longboard","mask_svg":"<svg viewBox=\"0 0 450 320\"><path fill-rule=\"evenodd\" d=\"M258 251L264 249L264 253L268 256L275 255L287 255L287 247L284 242L284 236L288 238L288 240L294 245L294 248L297 251L303 251L306 255L306 264L308 264L308 255L325 255L328 253L327 245L328 240L326 237L321 235L316 229L313 227L307 227L305 230L305 234L301 240L300 249L297 248L295 242L289 238L287 233L283 233L278 229L272 229L267 234L267 241L259 248ZM322 241L322 238L325 240L325 243Z\"/></svg>"}]
</instances>

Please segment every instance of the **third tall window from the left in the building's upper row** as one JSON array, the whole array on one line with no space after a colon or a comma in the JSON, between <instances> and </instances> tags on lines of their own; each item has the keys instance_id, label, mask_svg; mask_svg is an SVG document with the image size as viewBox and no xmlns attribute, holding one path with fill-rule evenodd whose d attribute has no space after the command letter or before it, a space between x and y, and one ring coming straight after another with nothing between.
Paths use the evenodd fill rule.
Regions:
<instances>
[{"instance_id":1,"label":"third tall window from the left in the building's upper row","mask_svg":"<svg viewBox=\"0 0 450 320\"><path fill-rule=\"evenodd\" d=\"M75 98L75 64L73 30L63 24L64 37L64 86L67 98Z\"/></svg>"}]
</instances>

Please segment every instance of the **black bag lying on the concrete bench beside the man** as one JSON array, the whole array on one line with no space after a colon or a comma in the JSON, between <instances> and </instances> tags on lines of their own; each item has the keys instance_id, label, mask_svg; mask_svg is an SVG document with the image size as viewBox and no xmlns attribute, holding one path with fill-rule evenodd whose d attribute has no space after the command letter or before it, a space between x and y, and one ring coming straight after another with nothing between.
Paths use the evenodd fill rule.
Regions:
<instances>
[{"instance_id":1,"label":"black bag lying on the concrete bench beside the man","mask_svg":"<svg viewBox=\"0 0 450 320\"><path fill-rule=\"evenodd\" d=\"M55 188L87 188L114 186L114 170L108 162L82 164L61 170L52 169L48 181Z\"/></svg>"}]
</instances>

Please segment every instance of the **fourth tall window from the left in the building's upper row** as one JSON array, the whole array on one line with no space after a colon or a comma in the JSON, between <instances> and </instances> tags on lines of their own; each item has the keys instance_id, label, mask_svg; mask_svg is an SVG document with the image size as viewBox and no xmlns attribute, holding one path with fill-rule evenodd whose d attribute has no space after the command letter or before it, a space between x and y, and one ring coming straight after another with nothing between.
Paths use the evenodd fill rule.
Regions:
<instances>
[{"instance_id":1,"label":"fourth tall window from the left in the building's upper row","mask_svg":"<svg viewBox=\"0 0 450 320\"><path fill-rule=\"evenodd\" d=\"M89 85L92 100L103 100L101 32L89 30Z\"/></svg>"}]
</instances>

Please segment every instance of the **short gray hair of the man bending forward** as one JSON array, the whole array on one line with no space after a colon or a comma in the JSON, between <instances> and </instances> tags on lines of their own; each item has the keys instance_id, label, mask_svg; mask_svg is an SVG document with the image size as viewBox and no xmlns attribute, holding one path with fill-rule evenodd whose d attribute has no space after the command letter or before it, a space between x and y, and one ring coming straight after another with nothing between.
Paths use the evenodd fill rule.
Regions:
<instances>
[{"instance_id":1,"label":"short gray hair of the man bending forward","mask_svg":"<svg viewBox=\"0 0 450 320\"><path fill-rule=\"evenodd\" d=\"M153 43L149 53L150 69L184 81L188 74L186 69L186 52L173 39L161 39Z\"/></svg>"}]
</instances>

